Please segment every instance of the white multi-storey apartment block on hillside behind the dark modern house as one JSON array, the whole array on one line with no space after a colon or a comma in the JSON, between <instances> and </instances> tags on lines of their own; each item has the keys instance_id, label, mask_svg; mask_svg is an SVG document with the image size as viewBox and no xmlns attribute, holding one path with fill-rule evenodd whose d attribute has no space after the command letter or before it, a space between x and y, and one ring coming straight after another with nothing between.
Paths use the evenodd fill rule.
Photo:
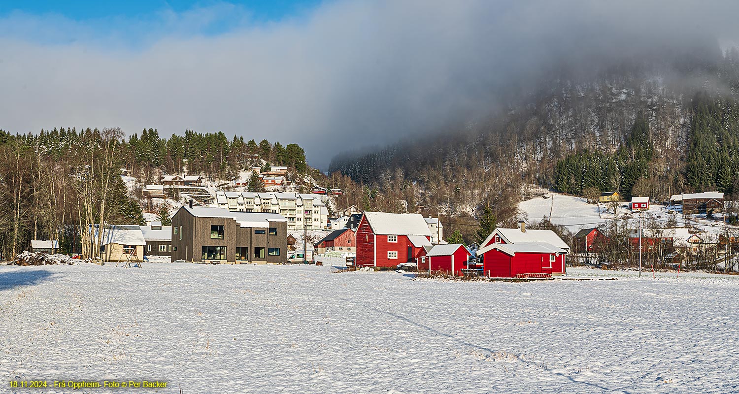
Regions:
<instances>
[{"instance_id":1,"label":"white multi-storey apartment block on hillside behind the dark modern house","mask_svg":"<svg viewBox=\"0 0 739 394\"><path fill-rule=\"evenodd\" d=\"M328 208L318 194L217 191L211 206L229 211L281 214L287 217L288 230L328 227Z\"/></svg>"}]
</instances>

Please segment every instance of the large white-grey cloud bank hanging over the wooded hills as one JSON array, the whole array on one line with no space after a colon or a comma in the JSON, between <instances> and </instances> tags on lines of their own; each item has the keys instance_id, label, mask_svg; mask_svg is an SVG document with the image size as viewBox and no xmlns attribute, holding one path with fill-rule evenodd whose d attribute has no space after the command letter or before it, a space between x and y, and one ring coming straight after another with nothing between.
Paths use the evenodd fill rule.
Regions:
<instances>
[{"instance_id":1,"label":"large white-grey cloud bank hanging over the wooded hills","mask_svg":"<svg viewBox=\"0 0 739 394\"><path fill-rule=\"evenodd\" d=\"M0 127L221 130L300 143L325 167L484 113L554 62L737 39L734 2L617 3L347 1L259 24L226 3L86 24L16 13L0 18Z\"/></svg>"}]
</instances>

